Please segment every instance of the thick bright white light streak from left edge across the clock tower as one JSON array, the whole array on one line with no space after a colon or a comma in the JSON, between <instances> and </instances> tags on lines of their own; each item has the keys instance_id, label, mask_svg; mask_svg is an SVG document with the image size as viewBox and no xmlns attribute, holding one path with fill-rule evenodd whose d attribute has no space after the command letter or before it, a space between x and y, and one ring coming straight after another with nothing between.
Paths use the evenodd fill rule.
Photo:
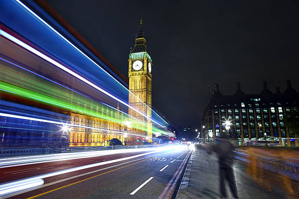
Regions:
<instances>
[{"instance_id":1,"label":"thick bright white light streak from left edge across the clock tower","mask_svg":"<svg viewBox=\"0 0 299 199\"><path fill-rule=\"evenodd\" d=\"M134 107L130 106L128 103L116 98L115 96L111 95L110 93L108 93L107 91L105 91L104 89L100 88L99 86L95 85L94 83L90 82L89 80L86 80L85 78L81 77L80 75L78 75L77 73L73 72L72 70L68 69L67 67L65 67L64 65L58 63L55 60L52 60L51 58L47 57L46 55L44 55L43 53L39 52L38 50L34 49L33 47L27 45L26 43L22 42L21 40L18 40L17 38L13 37L12 35L6 33L5 31L0 29L0 35L4 36L5 38L19 44L20 46L22 46L23 48L27 49L28 51L34 53L35 55L43 58L44 60L47 60L48 62L56 65L57 67L59 67L60 69L64 70L65 72L71 74L72 76L78 78L79 80L82 80L83 82L85 82L86 84L92 86L93 88L101 91L102 93L106 94L107 96L109 96L110 98L117 100L118 102L128 106L129 108L133 109L134 111L136 111L137 113L139 113L140 115L146 117L147 119L153 121L154 123L158 124L159 126L165 128L166 126L163 126L161 124L159 124L158 122L156 122L155 120L151 119L150 117L148 117L147 115L143 114L142 112L138 111L137 109L135 109Z\"/></svg>"}]
</instances>

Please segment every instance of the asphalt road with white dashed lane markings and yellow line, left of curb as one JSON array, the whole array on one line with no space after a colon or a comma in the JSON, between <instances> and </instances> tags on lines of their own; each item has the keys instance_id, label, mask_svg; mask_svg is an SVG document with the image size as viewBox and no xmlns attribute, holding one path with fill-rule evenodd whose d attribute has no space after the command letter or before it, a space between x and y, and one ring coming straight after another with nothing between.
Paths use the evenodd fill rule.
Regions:
<instances>
[{"instance_id":1,"label":"asphalt road with white dashed lane markings and yellow line, left of curb","mask_svg":"<svg viewBox=\"0 0 299 199\"><path fill-rule=\"evenodd\" d=\"M44 183L38 189L12 198L169 199L179 185L179 177L184 173L190 154L189 149L182 148L164 151L145 150L129 154L14 166L0 169L0 182L107 162L43 178Z\"/></svg>"}]
</instances>

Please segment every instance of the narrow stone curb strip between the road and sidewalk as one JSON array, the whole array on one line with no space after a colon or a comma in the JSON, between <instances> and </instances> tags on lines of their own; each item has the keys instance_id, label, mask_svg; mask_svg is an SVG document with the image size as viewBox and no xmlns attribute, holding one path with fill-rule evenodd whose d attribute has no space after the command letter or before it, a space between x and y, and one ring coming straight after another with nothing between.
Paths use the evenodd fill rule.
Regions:
<instances>
[{"instance_id":1,"label":"narrow stone curb strip between the road and sidewalk","mask_svg":"<svg viewBox=\"0 0 299 199\"><path fill-rule=\"evenodd\" d=\"M191 175L191 169L192 169L192 160L194 158L194 150L192 151L191 157L188 161L183 179L180 184L180 188L176 194L175 199L187 199L188 198L188 186L189 186L189 180L190 180L190 175Z\"/></svg>"}]
</instances>

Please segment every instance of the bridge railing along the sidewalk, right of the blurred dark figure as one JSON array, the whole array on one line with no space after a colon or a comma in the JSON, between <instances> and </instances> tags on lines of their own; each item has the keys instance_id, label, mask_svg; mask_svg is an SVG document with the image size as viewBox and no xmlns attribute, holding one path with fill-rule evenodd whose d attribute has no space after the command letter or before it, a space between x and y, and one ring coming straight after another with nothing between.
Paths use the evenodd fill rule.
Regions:
<instances>
[{"instance_id":1,"label":"bridge railing along the sidewalk, right of the blurred dark figure","mask_svg":"<svg viewBox=\"0 0 299 199\"><path fill-rule=\"evenodd\" d=\"M292 159L290 161L283 159L275 159L266 156L251 155L244 152L235 151L235 159L239 159L248 163L255 163L256 166L279 173L291 179L299 181L299 164L295 161L299 159Z\"/></svg>"}]
</instances>

